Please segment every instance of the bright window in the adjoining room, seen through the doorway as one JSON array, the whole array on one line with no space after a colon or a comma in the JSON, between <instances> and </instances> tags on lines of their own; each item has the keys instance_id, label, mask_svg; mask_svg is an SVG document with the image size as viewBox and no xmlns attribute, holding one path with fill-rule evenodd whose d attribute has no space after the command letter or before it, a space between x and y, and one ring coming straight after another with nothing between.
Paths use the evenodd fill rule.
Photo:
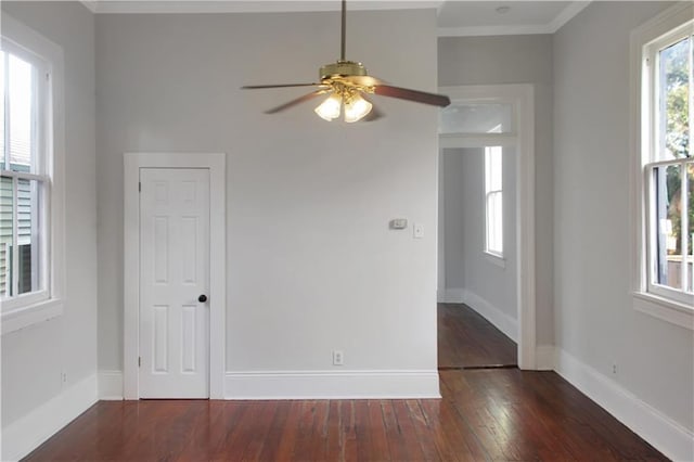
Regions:
<instances>
[{"instance_id":1,"label":"bright window in the adjoining room, seen through the doorway","mask_svg":"<svg viewBox=\"0 0 694 462\"><path fill-rule=\"evenodd\" d=\"M485 251L503 258L502 147L485 147Z\"/></svg>"}]
</instances>

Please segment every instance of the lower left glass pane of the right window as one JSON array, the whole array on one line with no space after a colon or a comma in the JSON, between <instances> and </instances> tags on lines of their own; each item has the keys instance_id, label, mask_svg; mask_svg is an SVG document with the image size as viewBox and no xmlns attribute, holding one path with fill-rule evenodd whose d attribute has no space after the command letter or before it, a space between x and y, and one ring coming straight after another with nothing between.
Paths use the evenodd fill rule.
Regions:
<instances>
[{"instance_id":1,"label":"lower left glass pane of the right window","mask_svg":"<svg viewBox=\"0 0 694 462\"><path fill-rule=\"evenodd\" d=\"M654 168L656 258L655 282L682 288L682 168Z\"/></svg>"}]
</instances>

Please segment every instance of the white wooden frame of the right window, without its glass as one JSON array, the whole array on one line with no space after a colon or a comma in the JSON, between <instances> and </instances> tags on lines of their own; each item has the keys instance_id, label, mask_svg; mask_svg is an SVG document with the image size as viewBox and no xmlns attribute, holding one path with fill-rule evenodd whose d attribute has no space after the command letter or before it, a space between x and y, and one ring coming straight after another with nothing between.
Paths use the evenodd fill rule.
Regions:
<instances>
[{"instance_id":1,"label":"white wooden frame of the right window, without its glass","mask_svg":"<svg viewBox=\"0 0 694 462\"><path fill-rule=\"evenodd\" d=\"M631 120L632 137L632 295L634 309L667 322L694 330L694 296L651 282L651 248L653 224L650 207L653 193L647 175L657 162L655 115L654 56L664 44L694 26L694 10L690 2L678 3L631 34ZM681 161L681 159L680 159ZM677 162L676 162L677 163Z\"/></svg>"}]
</instances>

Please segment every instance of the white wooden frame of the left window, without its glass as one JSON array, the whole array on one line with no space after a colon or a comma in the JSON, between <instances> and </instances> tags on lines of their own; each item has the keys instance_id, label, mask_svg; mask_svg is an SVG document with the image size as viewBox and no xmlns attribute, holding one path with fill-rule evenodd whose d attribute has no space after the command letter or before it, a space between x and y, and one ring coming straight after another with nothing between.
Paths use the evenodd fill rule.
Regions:
<instances>
[{"instance_id":1,"label":"white wooden frame of the left window, without its glass","mask_svg":"<svg viewBox=\"0 0 694 462\"><path fill-rule=\"evenodd\" d=\"M65 278L64 259L64 59L57 44L39 35L12 16L2 14L2 49L37 66L46 75L39 85L46 102L39 112L43 132L37 142L44 156L39 161L39 174L3 171L3 176L39 179L44 184L46 245L41 278L44 290L18 295L2 301L0 323L2 334L27 328L63 313ZM40 82L41 84L41 82Z\"/></svg>"}]
</instances>

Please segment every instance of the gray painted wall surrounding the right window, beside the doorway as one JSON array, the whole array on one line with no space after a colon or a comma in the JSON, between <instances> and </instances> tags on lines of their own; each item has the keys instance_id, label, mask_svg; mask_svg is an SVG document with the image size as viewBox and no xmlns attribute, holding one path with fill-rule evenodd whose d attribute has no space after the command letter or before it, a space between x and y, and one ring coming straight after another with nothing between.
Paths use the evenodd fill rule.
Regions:
<instances>
[{"instance_id":1,"label":"gray painted wall surrounding the right window, beside the doorway","mask_svg":"<svg viewBox=\"0 0 694 462\"><path fill-rule=\"evenodd\" d=\"M629 34L668 5L593 2L555 36L555 338L692 431L694 332L630 295Z\"/></svg>"}]
</instances>

